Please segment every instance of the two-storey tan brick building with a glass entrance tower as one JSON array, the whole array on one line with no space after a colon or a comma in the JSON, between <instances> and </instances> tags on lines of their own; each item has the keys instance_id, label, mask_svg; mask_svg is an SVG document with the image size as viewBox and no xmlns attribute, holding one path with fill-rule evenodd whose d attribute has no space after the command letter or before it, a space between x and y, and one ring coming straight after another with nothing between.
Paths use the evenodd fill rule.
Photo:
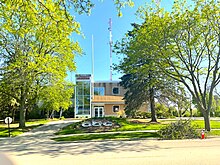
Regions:
<instances>
[{"instance_id":1,"label":"two-storey tan brick building with a glass entrance tower","mask_svg":"<svg viewBox=\"0 0 220 165\"><path fill-rule=\"evenodd\" d=\"M118 116L125 108L124 94L119 81L92 82L90 74L77 74L75 117Z\"/></svg>"}]
</instances>

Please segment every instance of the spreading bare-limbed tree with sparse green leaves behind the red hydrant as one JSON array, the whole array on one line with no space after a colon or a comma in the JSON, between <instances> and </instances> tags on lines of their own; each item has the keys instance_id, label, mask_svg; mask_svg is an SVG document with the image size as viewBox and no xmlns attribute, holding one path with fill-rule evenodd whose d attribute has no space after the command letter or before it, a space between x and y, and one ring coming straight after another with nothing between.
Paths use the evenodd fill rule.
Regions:
<instances>
[{"instance_id":1,"label":"spreading bare-limbed tree with sparse green leaves behind the red hydrant","mask_svg":"<svg viewBox=\"0 0 220 165\"><path fill-rule=\"evenodd\" d=\"M214 0L187 5L175 1L172 11L159 6L140 10L144 27L138 36L150 46L164 74L184 85L203 114L210 131L213 90L220 82L220 9ZM207 97L208 96L208 97Z\"/></svg>"}]
</instances>

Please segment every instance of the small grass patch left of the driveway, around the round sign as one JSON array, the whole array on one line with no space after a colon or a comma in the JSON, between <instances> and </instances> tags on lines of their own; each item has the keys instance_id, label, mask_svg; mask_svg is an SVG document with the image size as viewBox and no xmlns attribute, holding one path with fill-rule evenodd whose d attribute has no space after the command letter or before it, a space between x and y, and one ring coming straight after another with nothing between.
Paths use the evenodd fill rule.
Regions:
<instances>
[{"instance_id":1,"label":"small grass patch left of the driveway, around the round sign","mask_svg":"<svg viewBox=\"0 0 220 165\"><path fill-rule=\"evenodd\" d=\"M50 120L32 120L32 121L27 121L26 122L26 128L18 128L18 123L10 124L10 134L12 137L18 136L24 132L28 132L33 128L39 127ZM0 124L0 138L1 137L8 137L8 125L7 124Z\"/></svg>"}]
</instances>

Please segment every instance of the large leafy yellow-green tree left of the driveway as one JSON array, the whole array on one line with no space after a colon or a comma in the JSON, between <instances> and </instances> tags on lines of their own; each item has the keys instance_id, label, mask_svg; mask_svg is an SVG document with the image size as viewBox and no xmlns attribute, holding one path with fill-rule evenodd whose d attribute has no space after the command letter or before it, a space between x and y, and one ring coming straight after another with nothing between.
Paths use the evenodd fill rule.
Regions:
<instances>
[{"instance_id":1,"label":"large leafy yellow-green tree left of the driveway","mask_svg":"<svg viewBox=\"0 0 220 165\"><path fill-rule=\"evenodd\" d=\"M79 24L64 8L52 1L19 2L0 4L0 92L19 103L19 127L25 127L28 104L44 88L64 82L81 48L69 39Z\"/></svg>"}]
</instances>

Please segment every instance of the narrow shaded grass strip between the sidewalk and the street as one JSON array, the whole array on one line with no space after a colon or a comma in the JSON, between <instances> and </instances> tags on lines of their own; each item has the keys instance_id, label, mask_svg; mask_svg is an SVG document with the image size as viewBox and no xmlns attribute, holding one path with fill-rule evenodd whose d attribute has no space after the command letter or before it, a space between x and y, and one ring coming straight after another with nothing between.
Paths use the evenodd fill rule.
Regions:
<instances>
[{"instance_id":1,"label":"narrow shaded grass strip between the sidewalk and the street","mask_svg":"<svg viewBox=\"0 0 220 165\"><path fill-rule=\"evenodd\" d=\"M112 133L112 134L85 134L67 137L53 138L55 141L79 141L79 140L112 140L112 139L140 139L159 137L157 133L151 132L134 132L134 133Z\"/></svg>"}]
</instances>

